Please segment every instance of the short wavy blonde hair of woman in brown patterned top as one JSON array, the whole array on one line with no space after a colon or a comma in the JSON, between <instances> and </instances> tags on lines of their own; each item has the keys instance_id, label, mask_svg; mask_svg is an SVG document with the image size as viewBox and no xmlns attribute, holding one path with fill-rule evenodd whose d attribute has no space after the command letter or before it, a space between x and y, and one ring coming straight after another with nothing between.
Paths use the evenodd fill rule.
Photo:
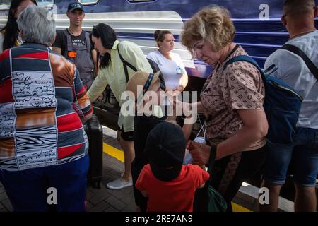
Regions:
<instances>
[{"instance_id":1,"label":"short wavy blonde hair of woman in brown patterned top","mask_svg":"<svg viewBox=\"0 0 318 226\"><path fill-rule=\"evenodd\" d=\"M218 52L232 42L235 27L230 18L230 11L222 6L208 6L197 12L184 24L181 43L194 56L192 44L199 40L210 42L213 51Z\"/></svg>"}]
</instances>

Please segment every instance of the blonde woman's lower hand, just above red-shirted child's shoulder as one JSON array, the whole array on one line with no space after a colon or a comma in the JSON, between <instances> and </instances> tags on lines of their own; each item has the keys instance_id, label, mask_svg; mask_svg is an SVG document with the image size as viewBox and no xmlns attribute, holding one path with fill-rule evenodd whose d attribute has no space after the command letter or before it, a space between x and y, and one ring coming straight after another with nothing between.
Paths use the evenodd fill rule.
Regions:
<instances>
[{"instance_id":1,"label":"blonde woman's lower hand, just above red-shirted child's shoulder","mask_svg":"<svg viewBox=\"0 0 318 226\"><path fill-rule=\"evenodd\" d=\"M208 160L210 160L211 147L203 143L196 143L194 141L189 141L187 143L187 149L192 155L193 164L196 165L206 165Z\"/></svg>"}]
</instances>

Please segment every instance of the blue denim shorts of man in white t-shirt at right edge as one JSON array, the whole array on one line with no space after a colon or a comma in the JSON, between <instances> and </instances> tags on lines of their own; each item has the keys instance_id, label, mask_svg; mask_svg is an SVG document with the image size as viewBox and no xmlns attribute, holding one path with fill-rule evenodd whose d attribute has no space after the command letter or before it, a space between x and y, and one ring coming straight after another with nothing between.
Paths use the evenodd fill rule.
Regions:
<instances>
[{"instance_id":1,"label":"blue denim shorts of man in white t-shirt at right edge","mask_svg":"<svg viewBox=\"0 0 318 226\"><path fill-rule=\"evenodd\" d=\"M318 174L318 129L298 127L290 145L267 141L264 180L285 184L293 157L293 180L300 186L315 186Z\"/></svg>"}]
</instances>

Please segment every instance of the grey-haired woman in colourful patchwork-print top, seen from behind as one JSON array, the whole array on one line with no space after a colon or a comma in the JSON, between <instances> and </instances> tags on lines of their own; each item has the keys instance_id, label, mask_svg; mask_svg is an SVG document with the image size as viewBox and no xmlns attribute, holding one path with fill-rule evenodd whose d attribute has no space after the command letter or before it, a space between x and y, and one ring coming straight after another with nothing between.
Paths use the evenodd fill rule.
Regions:
<instances>
[{"instance_id":1,"label":"grey-haired woman in colourful patchwork-print top, seen from behind","mask_svg":"<svg viewBox=\"0 0 318 226\"><path fill-rule=\"evenodd\" d=\"M92 109L76 67L49 49L48 13L25 8L25 43L0 54L0 181L16 211L83 211Z\"/></svg>"}]
</instances>

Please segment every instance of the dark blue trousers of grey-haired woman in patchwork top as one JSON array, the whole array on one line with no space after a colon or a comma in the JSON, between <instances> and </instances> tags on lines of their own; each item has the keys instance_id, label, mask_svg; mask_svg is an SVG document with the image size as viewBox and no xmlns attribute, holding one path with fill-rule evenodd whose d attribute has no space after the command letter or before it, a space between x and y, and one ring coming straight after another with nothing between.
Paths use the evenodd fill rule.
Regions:
<instances>
[{"instance_id":1,"label":"dark blue trousers of grey-haired woman in patchwork top","mask_svg":"<svg viewBox=\"0 0 318 226\"><path fill-rule=\"evenodd\" d=\"M89 157L62 165L26 169L17 172L0 171L0 181L13 210L17 212L61 212L85 211L86 177ZM56 189L57 205L49 205ZM52 203L52 202L51 202Z\"/></svg>"}]
</instances>

